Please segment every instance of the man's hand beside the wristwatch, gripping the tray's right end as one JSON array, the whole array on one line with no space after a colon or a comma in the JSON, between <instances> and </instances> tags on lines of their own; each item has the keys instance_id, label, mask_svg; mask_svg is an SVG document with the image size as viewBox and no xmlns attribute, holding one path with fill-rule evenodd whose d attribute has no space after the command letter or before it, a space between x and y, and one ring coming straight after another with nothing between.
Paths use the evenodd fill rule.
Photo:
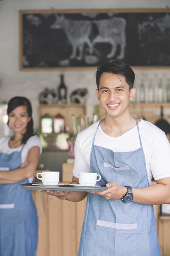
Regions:
<instances>
[{"instance_id":1,"label":"man's hand beside the wristwatch, gripping the tray's right end","mask_svg":"<svg viewBox=\"0 0 170 256\"><path fill-rule=\"evenodd\" d=\"M127 188L120 186L117 182L113 181L106 184L108 189L103 192L91 192L93 194L102 195L107 200L116 200L122 198L123 195L127 193Z\"/></svg>"}]
</instances>

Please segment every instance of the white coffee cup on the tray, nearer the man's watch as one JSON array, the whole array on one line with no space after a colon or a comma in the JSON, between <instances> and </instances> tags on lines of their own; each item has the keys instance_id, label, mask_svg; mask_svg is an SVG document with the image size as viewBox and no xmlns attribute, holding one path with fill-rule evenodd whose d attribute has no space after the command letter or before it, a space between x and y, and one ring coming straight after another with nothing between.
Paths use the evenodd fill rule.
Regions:
<instances>
[{"instance_id":1,"label":"white coffee cup on the tray, nearer the man's watch","mask_svg":"<svg viewBox=\"0 0 170 256\"><path fill-rule=\"evenodd\" d=\"M97 180L97 177L99 179ZM101 175L94 172L80 172L79 173L79 184L82 186L95 186L96 182L101 180Z\"/></svg>"}]
</instances>

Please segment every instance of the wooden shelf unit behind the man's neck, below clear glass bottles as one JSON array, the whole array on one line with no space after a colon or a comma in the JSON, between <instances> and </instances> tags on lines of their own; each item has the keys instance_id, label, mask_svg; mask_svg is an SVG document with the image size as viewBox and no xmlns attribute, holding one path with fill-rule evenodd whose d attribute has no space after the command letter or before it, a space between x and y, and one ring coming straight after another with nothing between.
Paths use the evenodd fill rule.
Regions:
<instances>
[{"instance_id":1,"label":"wooden shelf unit behind the man's neck, below clear glass bottles","mask_svg":"<svg viewBox=\"0 0 170 256\"><path fill-rule=\"evenodd\" d=\"M144 116L145 119L151 123L155 123L158 119L160 119L160 108L163 106L164 108L164 119L170 119L170 102L162 102L162 103L136 103L130 104L130 113L137 117L141 118ZM102 109L100 105L97 106L99 119L105 118L105 111Z\"/></svg>"}]
</instances>

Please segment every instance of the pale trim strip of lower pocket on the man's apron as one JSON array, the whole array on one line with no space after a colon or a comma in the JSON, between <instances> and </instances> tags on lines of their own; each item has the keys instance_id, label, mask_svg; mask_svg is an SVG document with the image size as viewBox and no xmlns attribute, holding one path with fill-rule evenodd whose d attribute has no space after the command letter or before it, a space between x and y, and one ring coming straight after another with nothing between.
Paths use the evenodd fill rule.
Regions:
<instances>
[{"instance_id":1,"label":"pale trim strip of lower pocket on the man's apron","mask_svg":"<svg viewBox=\"0 0 170 256\"><path fill-rule=\"evenodd\" d=\"M109 221L97 220L97 225L102 227L112 227L117 229L136 229L137 223L125 224L125 223L114 223Z\"/></svg>"}]
</instances>

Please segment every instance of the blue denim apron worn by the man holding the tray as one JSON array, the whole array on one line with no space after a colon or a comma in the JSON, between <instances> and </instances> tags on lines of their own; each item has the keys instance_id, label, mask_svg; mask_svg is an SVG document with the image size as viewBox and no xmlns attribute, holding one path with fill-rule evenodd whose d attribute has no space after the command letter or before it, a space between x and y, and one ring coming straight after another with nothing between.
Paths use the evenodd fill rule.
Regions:
<instances>
[{"instance_id":1,"label":"blue denim apron worn by the man holding the tray","mask_svg":"<svg viewBox=\"0 0 170 256\"><path fill-rule=\"evenodd\" d=\"M137 119L136 124L139 133ZM149 186L140 134L140 148L130 152L113 152L94 140L90 169L102 176L98 185L116 181L132 188ZM160 256L153 206L88 193L79 256L125 255Z\"/></svg>"}]
</instances>

